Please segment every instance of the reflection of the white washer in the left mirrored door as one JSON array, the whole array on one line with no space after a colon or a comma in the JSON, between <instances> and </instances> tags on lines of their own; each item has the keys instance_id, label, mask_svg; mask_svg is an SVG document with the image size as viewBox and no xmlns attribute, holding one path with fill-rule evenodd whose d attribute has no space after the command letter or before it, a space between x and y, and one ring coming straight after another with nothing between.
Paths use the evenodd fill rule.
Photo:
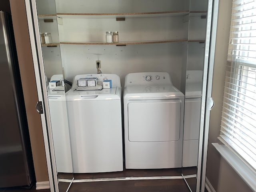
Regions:
<instances>
[{"instance_id":1,"label":"reflection of the white washer in the left mirrored door","mask_svg":"<svg viewBox=\"0 0 256 192\"><path fill-rule=\"evenodd\" d=\"M53 75L52 80L63 80L62 74ZM52 139L57 172L72 173L72 158L68 130L68 115L64 87L47 90L52 127Z\"/></svg>"}]
</instances>

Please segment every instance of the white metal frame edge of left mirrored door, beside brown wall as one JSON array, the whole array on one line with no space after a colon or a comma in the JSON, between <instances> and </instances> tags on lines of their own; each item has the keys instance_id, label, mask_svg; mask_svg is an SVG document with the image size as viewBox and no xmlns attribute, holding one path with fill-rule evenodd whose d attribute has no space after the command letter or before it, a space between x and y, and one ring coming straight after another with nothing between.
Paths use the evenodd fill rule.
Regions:
<instances>
[{"instance_id":1,"label":"white metal frame edge of left mirrored door, beside brown wall","mask_svg":"<svg viewBox=\"0 0 256 192\"><path fill-rule=\"evenodd\" d=\"M38 92L38 100L42 101L44 113L40 114L42 121L42 131L44 136L44 147L46 153L46 163L48 169L48 177L50 182L51 192L58 192L58 179L57 170L55 165L51 125L50 125L50 112L48 107L47 87L44 75L44 65L42 59L41 42L36 38L36 34L40 36L37 18L36 0L25 0L26 15L28 20L28 30L30 35L30 46L32 51L32 58L34 64L34 72L36 77L36 87ZM35 109L36 110L36 109Z\"/></svg>"}]
</instances>

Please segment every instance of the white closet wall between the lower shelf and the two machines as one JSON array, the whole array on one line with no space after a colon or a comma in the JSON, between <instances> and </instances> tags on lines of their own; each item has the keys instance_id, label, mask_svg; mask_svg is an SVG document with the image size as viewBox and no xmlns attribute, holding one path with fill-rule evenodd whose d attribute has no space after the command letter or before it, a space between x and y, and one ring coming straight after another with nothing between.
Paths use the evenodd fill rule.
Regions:
<instances>
[{"instance_id":1,"label":"white closet wall between the lower shelf and the two machines","mask_svg":"<svg viewBox=\"0 0 256 192\"><path fill-rule=\"evenodd\" d=\"M102 72L118 74L124 85L126 74L133 72L168 72L180 88L182 43L113 45L61 45L62 66L66 79L77 74L96 73L96 60Z\"/></svg>"}]
</instances>

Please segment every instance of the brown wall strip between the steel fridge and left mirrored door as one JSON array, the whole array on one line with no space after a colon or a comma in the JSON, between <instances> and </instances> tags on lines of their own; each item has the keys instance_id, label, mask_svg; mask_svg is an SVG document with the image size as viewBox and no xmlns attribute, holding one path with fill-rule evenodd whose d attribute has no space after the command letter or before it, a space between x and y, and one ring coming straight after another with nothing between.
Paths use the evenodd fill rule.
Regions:
<instances>
[{"instance_id":1,"label":"brown wall strip between the steel fridge and left mirrored door","mask_svg":"<svg viewBox=\"0 0 256 192\"><path fill-rule=\"evenodd\" d=\"M40 115L36 112L35 108L38 95L28 34L25 1L10 0L10 8L26 105L36 182L48 181L42 124Z\"/></svg>"}]
</instances>

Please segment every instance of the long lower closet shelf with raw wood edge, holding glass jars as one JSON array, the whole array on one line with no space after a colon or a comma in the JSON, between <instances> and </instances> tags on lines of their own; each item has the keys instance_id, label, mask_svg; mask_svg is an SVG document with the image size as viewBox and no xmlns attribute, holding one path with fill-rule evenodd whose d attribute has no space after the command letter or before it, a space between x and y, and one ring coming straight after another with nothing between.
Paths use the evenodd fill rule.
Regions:
<instances>
[{"instance_id":1,"label":"long lower closet shelf with raw wood edge, holding glass jars","mask_svg":"<svg viewBox=\"0 0 256 192\"><path fill-rule=\"evenodd\" d=\"M69 45L137 45L137 44L155 44L155 43L172 43L172 42L186 42L187 39L164 40L164 41L145 41L145 42L119 42L119 43L104 43L104 42L60 42L60 44Z\"/></svg>"}]
</instances>

